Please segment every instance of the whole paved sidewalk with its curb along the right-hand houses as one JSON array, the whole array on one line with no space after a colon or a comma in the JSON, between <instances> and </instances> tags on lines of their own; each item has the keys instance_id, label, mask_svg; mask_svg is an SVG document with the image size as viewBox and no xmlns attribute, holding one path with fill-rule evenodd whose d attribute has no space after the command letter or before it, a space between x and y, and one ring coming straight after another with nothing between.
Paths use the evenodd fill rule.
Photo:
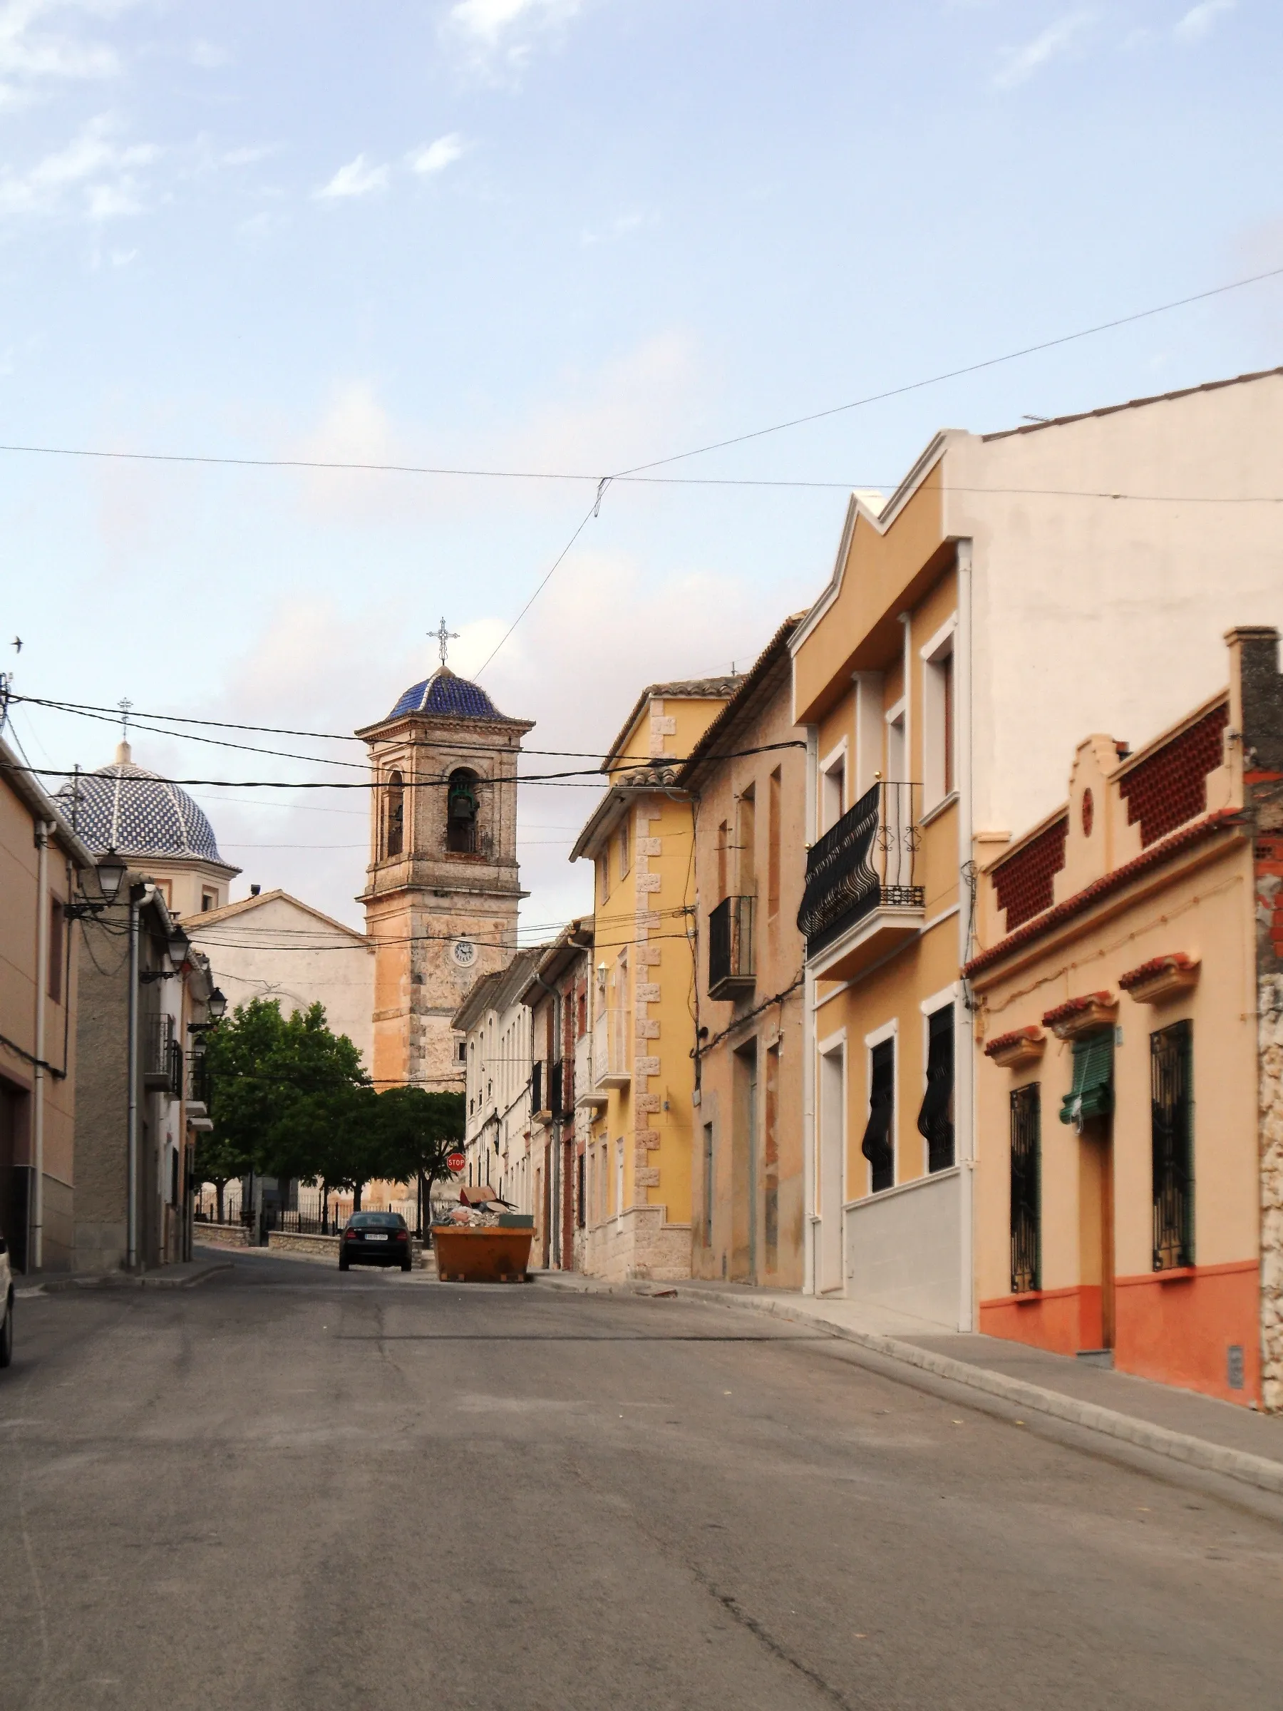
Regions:
<instances>
[{"instance_id":1,"label":"whole paved sidewalk with its curb along the right-hand houses","mask_svg":"<svg viewBox=\"0 0 1283 1711\"><path fill-rule=\"evenodd\" d=\"M744 1283L606 1283L573 1271L541 1271L553 1288L585 1294L676 1295L705 1305L768 1312L857 1343L936 1377L999 1396L1030 1413L1136 1444L1189 1466L1283 1495L1283 1415L1175 1389L1127 1372L997 1336L949 1331L886 1307L825 1300Z\"/></svg>"}]
</instances>

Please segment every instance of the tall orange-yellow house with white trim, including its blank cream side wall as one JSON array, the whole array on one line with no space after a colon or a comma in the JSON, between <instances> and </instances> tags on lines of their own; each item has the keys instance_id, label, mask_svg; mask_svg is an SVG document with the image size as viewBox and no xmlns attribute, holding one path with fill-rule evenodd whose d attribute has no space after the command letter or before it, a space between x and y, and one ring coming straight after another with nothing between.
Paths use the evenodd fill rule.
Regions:
<instances>
[{"instance_id":1,"label":"tall orange-yellow house with white trim, including its blank cream side wall","mask_svg":"<svg viewBox=\"0 0 1283 1711\"><path fill-rule=\"evenodd\" d=\"M939 435L854 498L799 626L811 741L807 1287L975 1324L972 886L1086 729L1150 741L1276 623L1283 373ZM1199 503L1189 503L1189 496ZM1059 763L1062 765L1062 761Z\"/></svg>"}]
</instances>

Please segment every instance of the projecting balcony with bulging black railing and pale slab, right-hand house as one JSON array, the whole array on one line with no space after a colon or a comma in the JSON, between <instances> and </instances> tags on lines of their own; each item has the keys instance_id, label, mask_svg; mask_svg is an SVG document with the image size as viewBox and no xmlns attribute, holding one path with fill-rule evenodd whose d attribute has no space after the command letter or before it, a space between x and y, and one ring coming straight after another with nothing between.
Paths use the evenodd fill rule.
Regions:
<instances>
[{"instance_id":1,"label":"projecting balcony with bulging black railing and pale slab, right-hand house","mask_svg":"<svg viewBox=\"0 0 1283 1711\"><path fill-rule=\"evenodd\" d=\"M811 845L797 929L825 979L852 979L922 927L920 801L917 784L874 784Z\"/></svg>"}]
</instances>

